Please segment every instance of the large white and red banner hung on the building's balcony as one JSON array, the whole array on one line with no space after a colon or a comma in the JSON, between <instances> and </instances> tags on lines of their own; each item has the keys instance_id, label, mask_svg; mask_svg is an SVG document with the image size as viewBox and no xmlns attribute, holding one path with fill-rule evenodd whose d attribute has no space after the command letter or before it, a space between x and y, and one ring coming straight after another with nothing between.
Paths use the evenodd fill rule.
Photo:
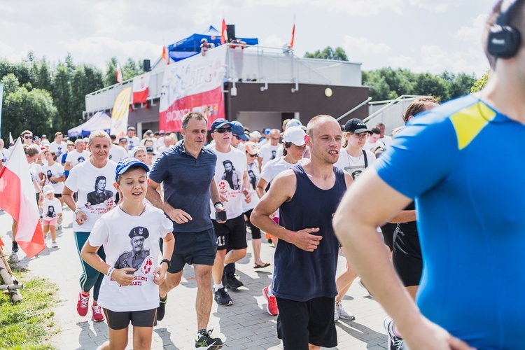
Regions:
<instances>
[{"instance_id":1,"label":"large white and red banner hung on the building's balcony","mask_svg":"<svg viewBox=\"0 0 525 350\"><path fill-rule=\"evenodd\" d=\"M224 118L222 85L227 45L207 50L166 66L160 91L159 130L178 132L182 117L191 111L208 118L208 129Z\"/></svg>"}]
</instances>

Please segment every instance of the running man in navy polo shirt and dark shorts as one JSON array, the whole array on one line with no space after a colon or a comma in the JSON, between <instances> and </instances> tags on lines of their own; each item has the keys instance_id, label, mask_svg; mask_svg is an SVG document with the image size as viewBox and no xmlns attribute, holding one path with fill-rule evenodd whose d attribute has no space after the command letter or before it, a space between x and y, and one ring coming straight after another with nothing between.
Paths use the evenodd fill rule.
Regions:
<instances>
[{"instance_id":1,"label":"running man in navy polo shirt and dark shorts","mask_svg":"<svg viewBox=\"0 0 525 350\"><path fill-rule=\"evenodd\" d=\"M211 267L217 239L210 218L210 198L217 211L224 211L214 180L217 157L204 147L207 118L190 112L182 118L183 140L158 158L150 173L148 200L172 219L176 239L167 279L160 285L157 319L164 318L167 293L179 285L183 267L193 264L197 279L197 324L195 347L221 349L222 341L207 331L211 312ZM164 199L158 193L164 183Z\"/></svg>"}]
</instances>

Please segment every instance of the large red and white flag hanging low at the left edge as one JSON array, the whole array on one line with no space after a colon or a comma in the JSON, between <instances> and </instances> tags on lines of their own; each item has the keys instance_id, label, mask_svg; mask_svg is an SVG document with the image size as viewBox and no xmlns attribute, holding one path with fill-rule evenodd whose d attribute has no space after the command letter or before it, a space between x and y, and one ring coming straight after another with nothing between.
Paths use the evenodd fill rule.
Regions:
<instances>
[{"instance_id":1,"label":"large red and white flag hanging low at the left edge","mask_svg":"<svg viewBox=\"0 0 525 350\"><path fill-rule=\"evenodd\" d=\"M20 138L0 170L0 208L18 223L16 241L28 258L44 250L40 212Z\"/></svg>"}]
</instances>

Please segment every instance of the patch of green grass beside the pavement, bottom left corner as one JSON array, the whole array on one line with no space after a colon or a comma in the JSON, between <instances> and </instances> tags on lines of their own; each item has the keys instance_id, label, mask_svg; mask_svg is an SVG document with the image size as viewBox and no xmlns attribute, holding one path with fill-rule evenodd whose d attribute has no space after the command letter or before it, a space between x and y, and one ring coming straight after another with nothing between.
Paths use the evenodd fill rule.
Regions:
<instances>
[{"instance_id":1,"label":"patch of green grass beside the pavement, bottom left corner","mask_svg":"<svg viewBox=\"0 0 525 350\"><path fill-rule=\"evenodd\" d=\"M57 298L53 283L38 279L27 269L13 268L18 281L24 283L22 302L11 302L8 294L0 293L0 349L56 349L48 339L56 333L55 312L52 307Z\"/></svg>"}]
</instances>

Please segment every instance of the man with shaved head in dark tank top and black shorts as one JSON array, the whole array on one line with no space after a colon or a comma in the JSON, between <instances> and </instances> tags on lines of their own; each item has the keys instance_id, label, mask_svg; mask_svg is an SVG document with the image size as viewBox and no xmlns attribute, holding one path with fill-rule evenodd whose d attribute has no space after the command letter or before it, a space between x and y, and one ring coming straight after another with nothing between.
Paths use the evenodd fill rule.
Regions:
<instances>
[{"instance_id":1,"label":"man with shaved head in dark tank top and black shorts","mask_svg":"<svg viewBox=\"0 0 525 350\"><path fill-rule=\"evenodd\" d=\"M251 214L254 225L279 238L272 293L279 307L277 336L283 339L284 349L337 345L338 242L332 214L353 180L333 166L342 145L337 120L312 118L305 141L311 152L309 162L279 174ZM278 208L282 226L269 217Z\"/></svg>"}]
</instances>

